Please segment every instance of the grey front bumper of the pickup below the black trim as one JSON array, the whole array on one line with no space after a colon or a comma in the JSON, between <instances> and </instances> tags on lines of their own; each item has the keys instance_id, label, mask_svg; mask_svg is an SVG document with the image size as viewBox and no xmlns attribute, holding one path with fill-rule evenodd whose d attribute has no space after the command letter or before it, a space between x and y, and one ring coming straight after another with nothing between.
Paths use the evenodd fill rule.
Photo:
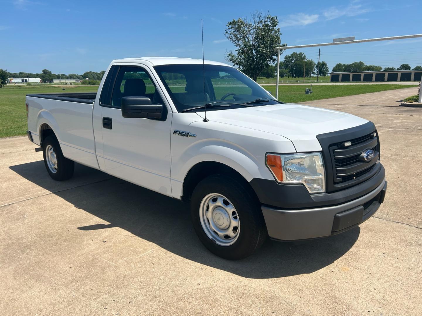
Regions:
<instances>
[{"instance_id":1,"label":"grey front bumper of the pickup below the black trim","mask_svg":"<svg viewBox=\"0 0 422 316\"><path fill-rule=\"evenodd\" d=\"M308 209L279 209L263 205L268 235L281 241L312 239L342 233L365 222L384 202L387 181L347 203Z\"/></svg>"}]
</instances>

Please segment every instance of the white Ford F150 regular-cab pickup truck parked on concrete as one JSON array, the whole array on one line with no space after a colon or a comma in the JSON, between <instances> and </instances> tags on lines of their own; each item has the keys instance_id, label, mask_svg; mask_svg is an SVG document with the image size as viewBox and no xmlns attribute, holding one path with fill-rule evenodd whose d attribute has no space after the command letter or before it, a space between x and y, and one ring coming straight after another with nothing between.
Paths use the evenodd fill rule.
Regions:
<instances>
[{"instance_id":1,"label":"white Ford F150 regular-cab pickup truck parked on concrete","mask_svg":"<svg viewBox=\"0 0 422 316\"><path fill-rule=\"evenodd\" d=\"M387 189L372 122L279 102L219 62L114 60L98 93L28 94L26 106L53 179L72 177L77 162L190 201L198 237L227 259L268 236L344 232Z\"/></svg>"}]
</instances>

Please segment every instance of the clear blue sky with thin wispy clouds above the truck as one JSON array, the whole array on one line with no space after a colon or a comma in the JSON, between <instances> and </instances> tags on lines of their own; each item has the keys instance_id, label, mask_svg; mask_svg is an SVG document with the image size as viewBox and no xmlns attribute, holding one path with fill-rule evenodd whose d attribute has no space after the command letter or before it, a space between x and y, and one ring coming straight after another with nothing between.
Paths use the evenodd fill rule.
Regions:
<instances>
[{"instance_id":1,"label":"clear blue sky with thin wispy clouds above the truck","mask_svg":"<svg viewBox=\"0 0 422 316\"><path fill-rule=\"evenodd\" d=\"M225 62L225 25L269 11L279 18L281 43L301 45L422 33L418 1L46 1L0 0L0 68L10 72L83 73L112 59L141 56ZM299 50L296 50L299 51ZM318 48L301 50L317 61ZM289 52L290 53L290 52ZM281 57L283 58L283 56ZM422 38L321 48L330 70L337 62L383 67L422 65Z\"/></svg>"}]
</instances>

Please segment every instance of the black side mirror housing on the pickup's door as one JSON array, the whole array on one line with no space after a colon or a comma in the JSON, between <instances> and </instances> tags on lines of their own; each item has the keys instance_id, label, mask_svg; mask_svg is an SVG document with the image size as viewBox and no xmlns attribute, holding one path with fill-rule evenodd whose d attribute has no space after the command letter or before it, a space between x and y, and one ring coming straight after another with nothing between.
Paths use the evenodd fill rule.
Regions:
<instances>
[{"instance_id":1,"label":"black side mirror housing on the pickup's door","mask_svg":"<svg viewBox=\"0 0 422 316\"><path fill-rule=\"evenodd\" d=\"M122 97L122 116L124 118L161 118L163 105L151 104L147 96Z\"/></svg>"}]
</instances>

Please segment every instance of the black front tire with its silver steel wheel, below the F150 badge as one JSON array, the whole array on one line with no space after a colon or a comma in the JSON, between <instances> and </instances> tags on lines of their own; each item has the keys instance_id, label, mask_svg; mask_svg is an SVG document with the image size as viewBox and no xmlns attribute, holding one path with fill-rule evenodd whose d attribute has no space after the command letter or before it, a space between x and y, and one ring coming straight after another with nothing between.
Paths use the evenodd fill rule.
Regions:
<instances>
[{"instance_id":1,"label":"black front tire with its silver steel wheel, below the F150 badge","mask_svg":"<svg viewBox=\"0 0 422 316\"><path fill-rule=\"evenodd\" d=\"M212 175L198 183L192 193L191 217L204 246L229 260L248 257L268 236L260 203L252 189L225 175ZM225 235L226 232L230 236Z\"/></svg>"}]
</instances>

